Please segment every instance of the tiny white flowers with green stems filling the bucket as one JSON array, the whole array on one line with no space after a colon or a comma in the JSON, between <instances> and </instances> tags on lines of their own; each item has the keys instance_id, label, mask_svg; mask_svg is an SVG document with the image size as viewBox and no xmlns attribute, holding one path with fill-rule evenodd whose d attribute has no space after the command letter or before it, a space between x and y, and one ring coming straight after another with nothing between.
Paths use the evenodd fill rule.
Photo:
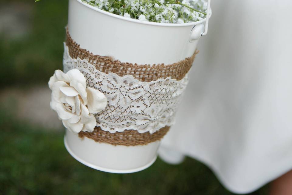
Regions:
<instances>
[{"instance_id":1,"label":"tiny white flowers with green stems filling the bucket","mask_svg":"<svg viewBox=\"0 0 292 195\"><path fill-rule=\"evenodd\" d=\"M140 21L189 23L203 19L207 2L204 0L82 0L99 9ZM182 5L184 4L184 5ZM125 5L125 6L123 6ZM190 9L186 6L193 9Z\"/></svg>"}]
</instances>

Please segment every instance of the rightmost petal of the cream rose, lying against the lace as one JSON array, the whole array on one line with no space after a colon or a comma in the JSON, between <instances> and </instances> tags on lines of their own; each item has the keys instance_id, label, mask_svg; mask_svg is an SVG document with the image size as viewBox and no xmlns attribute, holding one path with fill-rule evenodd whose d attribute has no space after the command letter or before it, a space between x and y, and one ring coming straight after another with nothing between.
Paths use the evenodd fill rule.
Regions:
<instances>
[{"instance_id":1,"label":"rightmost petal of the cream rose, lying against the lace","mask_svg":"<svg viewBox=\"0 0 292 195\"><path fill-rule=\"evenodd\" d=\"M99 90L91 87L86 88L87 92L87 107L90 113L98 113L106 108L107 99L106 96Z\"/></svg>"}]
</instances>

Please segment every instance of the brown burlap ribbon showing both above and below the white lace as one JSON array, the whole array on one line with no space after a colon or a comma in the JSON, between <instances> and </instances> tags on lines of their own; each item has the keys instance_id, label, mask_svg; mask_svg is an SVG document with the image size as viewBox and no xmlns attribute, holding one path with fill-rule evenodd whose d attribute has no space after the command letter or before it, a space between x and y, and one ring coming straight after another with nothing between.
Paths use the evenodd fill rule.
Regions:
<instances>
[{"instance_id":1,"label":"brown burlap ribbon showing both above and below the white lace","mask_svg":"<svg viewBox=\"0 0 292 195\"><path fill-rule=\"evenodd\" d=\"M186 73L189 72L193 60L199 52L196 50L191 57L170 65L137 65L113 60L110 56L94 55L86 49L80 48L80 45L71 38L68 28L66 30L66 35L66 45L69 48L69 55L71 58L86 59L89 63L94 65L97 70L106 74L116 73L118 76L132 75L137 80L144 82L150 82L160 78L166 79L167 77L181 80ZM168 132L169 128L169 126L165 126L155 133L150 134L149 132L139 133L134 129L110 133L109 131L102 130L100 127L96 127L93 132L80 132L79 137L88 137L96 142L104 142L112 145L136 146L160 140Z\"/></svg>"}]
</instances>

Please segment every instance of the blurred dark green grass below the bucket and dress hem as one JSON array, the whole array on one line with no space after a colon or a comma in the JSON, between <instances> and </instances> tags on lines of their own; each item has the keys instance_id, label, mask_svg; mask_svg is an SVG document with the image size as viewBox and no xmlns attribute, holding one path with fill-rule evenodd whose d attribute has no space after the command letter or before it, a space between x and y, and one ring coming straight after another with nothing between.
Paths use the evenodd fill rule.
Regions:
<instances>
[{"instance_id":1,"label":"blurred dark green grass below the bucket and dress hem","mask_svg":"<svg viewBox=\"0 0 292 195\"><path fill-rule=\"evenodd\" d=\"M232 194L209 168L191 158L180 165L158 159L131 174L94 170L70 156L63 132L18 121L5 105L1 108L0 194ZM267 190L252 194L264 195Z\"/></svg>"}]
</instances>

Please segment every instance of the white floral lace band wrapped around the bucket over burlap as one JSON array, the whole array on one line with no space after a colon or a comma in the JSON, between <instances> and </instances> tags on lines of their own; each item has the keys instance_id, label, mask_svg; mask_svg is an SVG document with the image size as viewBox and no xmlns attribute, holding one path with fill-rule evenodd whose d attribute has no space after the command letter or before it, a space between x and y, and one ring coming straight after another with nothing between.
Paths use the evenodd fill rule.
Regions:
<instances>
[{"instance_id":1,"label":"white floral lace band wrapped around the bucket over burlap","mask_svg":"<svg viewBox=\"0 0 292 195\"><path fill-rule=\"evenodd\" d=\"M127 129L154 133L174 124L176 110L188 83L188 76L177 81L166 78L141 82L132 75L100 72L87 60L72 59L64 43L64 73L78 69L86 78L87 87L106 95L108 105L96 114L97 126L111 133Z\"/></svg>"}]
</instances>

